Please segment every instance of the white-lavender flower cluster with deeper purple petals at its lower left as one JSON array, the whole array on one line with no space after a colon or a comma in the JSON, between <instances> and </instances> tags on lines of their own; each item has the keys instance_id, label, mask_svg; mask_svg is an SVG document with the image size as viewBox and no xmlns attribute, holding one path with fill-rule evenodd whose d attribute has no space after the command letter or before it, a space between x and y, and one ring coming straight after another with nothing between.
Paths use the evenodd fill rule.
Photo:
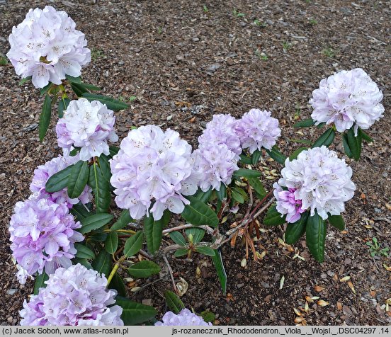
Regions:
<instances>
[{"instance_id":1,"label":"white-lavender flower cluster with deeper purple petals at its lower left","mask_svg":"<svg viewBox=\"0 0 391 337\"><path fill-rule=\"evenodd\" d=\"M283 193L278 185L274 195L277 209L295 222L303 210L315 210L322 219L344 212L344 203L353 198L356 186L351 181L352 170L336 152L327 147L315 147L300 152L297 159L286 159L278 185L288 188Z\"/></svg>"}]
</instances>

